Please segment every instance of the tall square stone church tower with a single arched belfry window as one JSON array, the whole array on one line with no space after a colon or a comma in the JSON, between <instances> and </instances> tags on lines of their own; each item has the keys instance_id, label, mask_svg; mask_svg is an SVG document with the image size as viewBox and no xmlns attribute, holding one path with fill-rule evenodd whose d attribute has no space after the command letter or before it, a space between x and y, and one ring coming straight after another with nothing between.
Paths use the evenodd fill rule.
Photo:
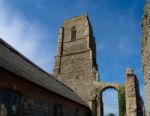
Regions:
<instances>
[{"instance_id":1,"label":"tall square stone church tower with a single arched belfry window","mask_svg":"<svg viewBox=\"0 0 150 116\"><path fill-rule=\"evenodd\" d=\"M96 45L87 15L65 20L58 34L53 75L72 88L90 107L98 80Z\"/></svg>"}]
</instances>

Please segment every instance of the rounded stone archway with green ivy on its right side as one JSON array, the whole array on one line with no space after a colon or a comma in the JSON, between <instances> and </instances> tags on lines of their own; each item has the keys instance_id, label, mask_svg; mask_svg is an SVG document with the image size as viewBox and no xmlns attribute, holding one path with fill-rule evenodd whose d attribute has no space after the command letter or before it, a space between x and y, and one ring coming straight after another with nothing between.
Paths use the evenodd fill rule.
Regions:
<instances>
[{"instance_id":1,"label":"rounded stone archway with green ivy on its right side","mask_svg":"<svg viewBox=\"0 0 150 116\"><path fill-rule=\"evenodd\" d=\"M97 116L103 116L103 99L102 93L107 89L114 89L118 92L119 116L125 113L125 88L118 83L95 82L96 101L97 101Z\"/></svg>"}]
</instances>

